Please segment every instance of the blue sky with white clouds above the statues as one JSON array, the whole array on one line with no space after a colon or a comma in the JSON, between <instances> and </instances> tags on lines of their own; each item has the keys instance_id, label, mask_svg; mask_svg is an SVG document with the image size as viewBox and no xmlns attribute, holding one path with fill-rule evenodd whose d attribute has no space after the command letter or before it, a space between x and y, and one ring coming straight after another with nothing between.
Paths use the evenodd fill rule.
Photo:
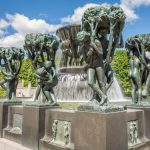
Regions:
<instances>
[{"instance_id":1,"label":"blue sky with white clouds above the statues","mask_svg":"<svg viewBox=\"0 0 150 150\"><path fill-rule=\"evenodd\" d=\"M150 33L150 0L0 0L0 46L21 47L27 33L55 33L61 26L80 23L85 9L103 3L124 9L124 39Z\"/></svg>"}]
</instances>

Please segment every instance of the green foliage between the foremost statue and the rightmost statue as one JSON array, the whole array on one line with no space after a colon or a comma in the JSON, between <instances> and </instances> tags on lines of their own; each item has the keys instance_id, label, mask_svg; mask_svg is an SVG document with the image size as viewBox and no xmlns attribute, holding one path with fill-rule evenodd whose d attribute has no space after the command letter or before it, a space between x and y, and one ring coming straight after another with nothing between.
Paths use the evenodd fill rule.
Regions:
<instances>
[{"instance_id":1,"label":"green foliage between the foremost statue and the rightmost statue","mask_svg":"<svg viewBox=\"0 0 150 150\"><path fill-rule=\"evenodd\" d=\"M119 83L125 94L129 94L131 91L131 85L128 78L128 57L126 51L117 50L114 55L114 60L112 62L112 67L114 74L116 75Z\"/></svg>"}]
</instances>

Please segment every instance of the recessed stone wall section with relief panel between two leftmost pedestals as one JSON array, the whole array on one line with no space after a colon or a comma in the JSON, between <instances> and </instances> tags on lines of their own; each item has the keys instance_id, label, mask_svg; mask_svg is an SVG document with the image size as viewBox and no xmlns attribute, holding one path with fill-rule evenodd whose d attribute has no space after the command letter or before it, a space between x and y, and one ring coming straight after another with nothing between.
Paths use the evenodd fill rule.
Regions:
<instances>
[{"instance_id":1,"label":"recessed stone wall section with relief panel between two leftmost pedestals","mask_svg":"<svg viewBox=\"0 0 150 150\"><path fill-rule=\"evenodd\" d=\"M4 129L4 138L22 143L23 106L9 106L8 123Z\"/></svg>"}]
</instances>

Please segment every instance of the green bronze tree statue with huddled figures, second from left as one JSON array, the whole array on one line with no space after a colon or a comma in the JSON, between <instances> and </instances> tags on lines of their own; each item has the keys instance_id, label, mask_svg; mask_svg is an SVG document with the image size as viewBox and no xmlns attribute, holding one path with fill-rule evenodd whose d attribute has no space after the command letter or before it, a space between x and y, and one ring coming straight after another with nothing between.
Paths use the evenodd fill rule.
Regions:
<instances>
[{"instance_id":1,"label":"green bronze tree statue with huddled figures, second from left","mask_svg":"<svg viewBox=\"0 0 150 150\"><path fill-rule=\"evenodd\" d=\"M56 105L53 87L58 79L55 70L55 55L59 43L55 36L48 34L28 34L25 38L24 48L33 63L38 86L35 93L36 102ZM42 99L40 99L42 94Z\"/></svg>"}]
</instances>

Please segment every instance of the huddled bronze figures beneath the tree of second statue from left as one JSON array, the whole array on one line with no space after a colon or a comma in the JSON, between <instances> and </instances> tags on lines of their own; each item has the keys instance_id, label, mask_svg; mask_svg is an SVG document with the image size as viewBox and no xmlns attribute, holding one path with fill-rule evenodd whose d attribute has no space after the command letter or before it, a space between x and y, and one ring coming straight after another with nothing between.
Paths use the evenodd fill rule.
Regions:
<instances>
[{"instance_id":1,"label":"huddled bronze figures beneath the tree of second statue from left","mask_svg":"<svg viewBox=\"0 0 150 150\"><path fill-rule=\"evenodd\" d=\"M51 105L56 105L56 98L53 92L53 87L57 85L56 70L52 66L51 61L44 62L44 65L36 70L38 79L38 87L35 94L35 100L38 100L40 92L44 94L43 102L48 102Z\"/></svg>"}]
</instances>

